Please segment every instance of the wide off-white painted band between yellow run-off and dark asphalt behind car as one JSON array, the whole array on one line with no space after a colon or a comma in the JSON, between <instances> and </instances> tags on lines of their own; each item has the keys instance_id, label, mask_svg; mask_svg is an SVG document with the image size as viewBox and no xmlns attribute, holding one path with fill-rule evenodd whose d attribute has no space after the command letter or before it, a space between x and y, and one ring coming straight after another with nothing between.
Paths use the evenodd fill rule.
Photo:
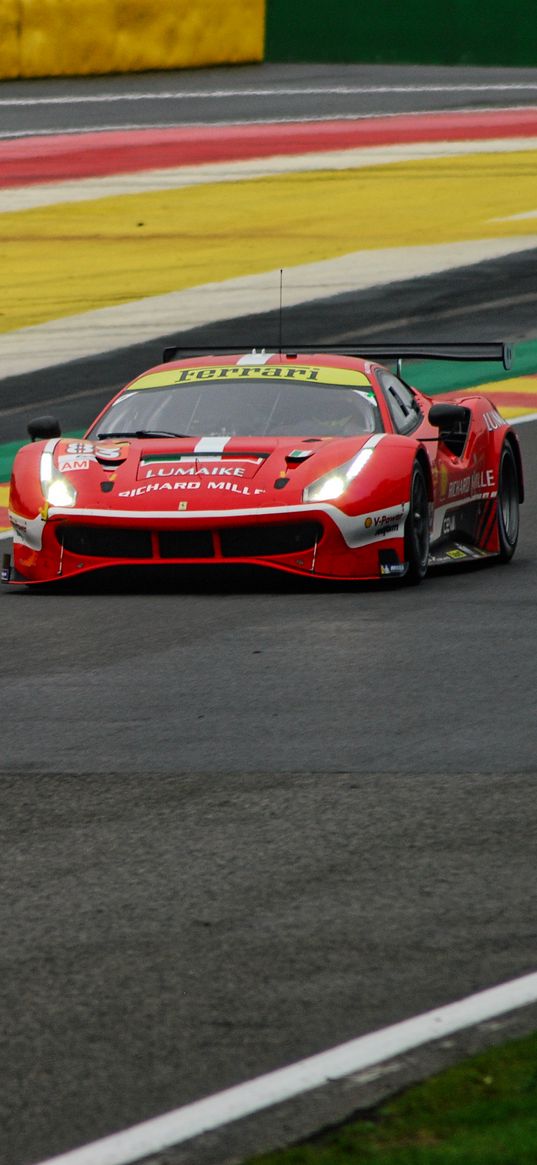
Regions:
<instances>
[{"instance_id":1,"label":"wide off-white painted band between yellow run-off and dark asphalt behind car","mask_svg":"<svg viewBox=\"0 0 537 1165\"><path fill-rule=\"evenodd\" d=\"M285 268L283 343L292 344L292 336L285 336L285 311L297 304L455 270L536 247L537 234L524 234L387 247L383 250L356 250L338 259ZM115 348L160 341L163 336L176 337L176 343L181 343L181 333L191 327L266 311L275 312L278 304L280 268L276 268L260 275L246 275L224 280L221 283L204 283L182 291L148 296L114 308L97 308L82 315L1 334L0 375L3 379L41 372L43 368L113 352ZM255 334L254 325L250 343L257 347L267 344L267 336L262 332ZM156 350L155 362L158 359Z\"/></svg>"}]
</instances>

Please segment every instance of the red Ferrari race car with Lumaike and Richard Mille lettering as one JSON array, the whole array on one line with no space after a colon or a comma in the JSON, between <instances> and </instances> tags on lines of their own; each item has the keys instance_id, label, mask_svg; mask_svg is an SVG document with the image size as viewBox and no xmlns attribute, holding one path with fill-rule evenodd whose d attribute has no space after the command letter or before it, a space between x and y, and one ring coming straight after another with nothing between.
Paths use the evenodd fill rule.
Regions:
<instances>
[{"instance_id":1,"label":"red Ferrari race car with Lumaike and Richard Mille lettering","mask_svg":"<svg viewBox=\"0 0 537 1165\"><path fill-rule=\"evenodd\" d=\"M30 422L3 580L246 563L419 582L438 564L508 562L523 500L517 437L479 393L411 388L407 356L510 366L504 344L169 348L83 439L62 438L54 417ZM380 360L397 360L400 375Z\"/></svg>"}]
</instances>

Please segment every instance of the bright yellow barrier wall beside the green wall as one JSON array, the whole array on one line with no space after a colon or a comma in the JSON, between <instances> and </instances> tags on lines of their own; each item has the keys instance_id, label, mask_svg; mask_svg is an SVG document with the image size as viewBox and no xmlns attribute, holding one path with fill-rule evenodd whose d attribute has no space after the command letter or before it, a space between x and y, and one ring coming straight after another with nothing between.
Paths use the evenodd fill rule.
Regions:
<instances>
[{"instance_id":1,"label":"bright yellow barrier wall beside the green wall","mask_svg":"<svg viewBox=\"0 0 537 1165\"><path fill-rule=\"evenodd\" d=\"M262 61L266 0L0 0L0 77Z\"/></svg>"}]
</instances>

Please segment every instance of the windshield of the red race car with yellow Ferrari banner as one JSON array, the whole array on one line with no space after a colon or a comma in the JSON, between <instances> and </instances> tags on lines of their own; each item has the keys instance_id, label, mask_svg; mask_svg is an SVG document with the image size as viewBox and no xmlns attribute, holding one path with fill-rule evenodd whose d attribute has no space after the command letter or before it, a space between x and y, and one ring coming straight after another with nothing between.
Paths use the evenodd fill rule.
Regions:
<instances>
[{"instance_id":1,"label":"windshield of the red race car with yellow Ferrari banner","mask_svg":"<svg viewBox=\"0 0 537 1165\"><path fill-rule=\"evenodd\" d=\"M162 383L162 379L172 381L177 369L170 369L168 374L148 374L111 404L89 436L154 431L192 437L284 437L298 433L352 437L382 430L375 395L362 373L295 367L284 368L284 376L273 375L269 379L260 375L266 373L264 368L242 369L234 366L228 376L222 376L227 370L181 369L183 374L197 374L199 377L213 373L211 380L196 379L191 383ZM270 370L282 372L278 366L270 366ZM242 372L247 373L245 377L238 375ZM325 374L328 383L317 380L304 382L297 376L301 372ZM335 373L340 374L339 379L345 377L363 387L330 383Z\"/></svg>"}]
</instances>

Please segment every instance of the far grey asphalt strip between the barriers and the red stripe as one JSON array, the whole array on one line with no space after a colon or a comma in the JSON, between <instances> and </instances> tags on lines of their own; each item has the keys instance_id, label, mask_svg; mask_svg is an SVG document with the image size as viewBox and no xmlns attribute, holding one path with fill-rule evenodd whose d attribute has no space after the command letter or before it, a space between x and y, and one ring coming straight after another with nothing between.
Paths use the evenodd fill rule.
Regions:
<instances>
[{"instance_id":1,"label":"far grey asphalt strip between the barriers and the red stripe","mask_svg":"<svg viewBox=\"0 0 537 1165\"><path fill-rule=\"evenodd\" d=\"M104 94L113 100L103 104ZM432 65L264 64L76 82L3 80L0 136L503 108L535 105L536 94L537 69Z\"/></svg>"}]
</instances>

